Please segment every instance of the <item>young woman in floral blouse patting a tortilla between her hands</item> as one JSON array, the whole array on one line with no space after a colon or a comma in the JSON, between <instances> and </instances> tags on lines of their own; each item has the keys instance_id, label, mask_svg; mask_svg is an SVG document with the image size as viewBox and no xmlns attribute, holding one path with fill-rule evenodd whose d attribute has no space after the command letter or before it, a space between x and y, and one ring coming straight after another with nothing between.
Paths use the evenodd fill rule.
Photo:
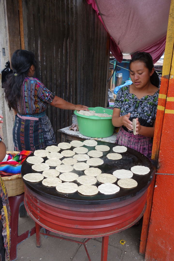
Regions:
<instances>
[{"instance_id":1,"label":"young woman in floral blouse patting a tortilla between her hands","mask_svg":"<svg viewBox=\"0 0 174 261\"><path fill-rule=\"evenodd\" d=\"M120 127L116 143L137 150L151 160L152 141L159 96L159 78L153 60L146 52L135 52L129 63L131 85L122 87L116 97L112 124ZM136 119L136 135L132 120Z\"/></svg>"}]
</instances>

